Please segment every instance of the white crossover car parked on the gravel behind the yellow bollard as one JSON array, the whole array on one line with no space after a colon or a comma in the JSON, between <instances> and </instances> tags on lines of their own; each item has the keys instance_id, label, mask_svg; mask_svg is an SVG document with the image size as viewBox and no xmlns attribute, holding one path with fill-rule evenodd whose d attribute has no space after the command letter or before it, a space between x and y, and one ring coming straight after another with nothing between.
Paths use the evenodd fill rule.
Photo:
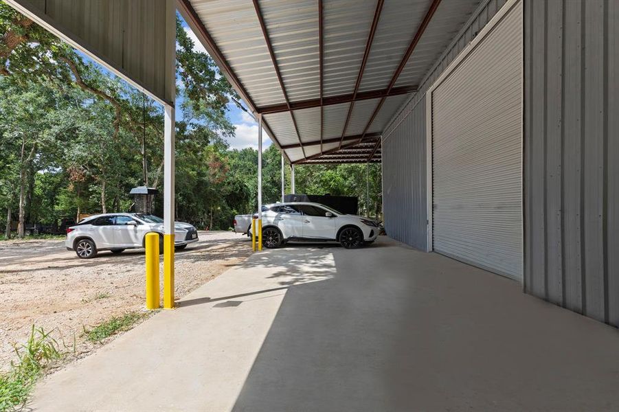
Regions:
<instances>
[{"instance_id":1,"label":"white crossover car parked on the gravel behind the yellow bollard","mask_svg":"<svg viewBox=\"0 0 619 412\"><path fill-rule=\"evenodd\" d=\"M82 259L94 258L98 251L121 253L144 247L146 233L159 233L159 251L164 246L164 220L153 215L113 213L89 216L67 228L65 246ZM175 249L198 241L198 231L189 223L175 222Z\"/></svg>"}]
</instances>

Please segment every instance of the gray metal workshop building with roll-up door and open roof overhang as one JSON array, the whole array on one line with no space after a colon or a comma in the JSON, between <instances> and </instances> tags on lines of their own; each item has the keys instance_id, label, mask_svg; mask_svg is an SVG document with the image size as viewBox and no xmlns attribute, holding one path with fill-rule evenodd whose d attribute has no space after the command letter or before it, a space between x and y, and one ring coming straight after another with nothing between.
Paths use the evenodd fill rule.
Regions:
<instances>
[{"instance_id":1,"label":"gray metal workshop building with roll-up door and open roof overhang","mask_svg":"<svg viewBox=\"0 0 619 412\"><path fill-rule=\"evenodd\" d=\"M166 106L166 226L178 9L289 163L382 163L388 236L619 326L618 1L7 1Z\"/></svg>"}]
</instances>

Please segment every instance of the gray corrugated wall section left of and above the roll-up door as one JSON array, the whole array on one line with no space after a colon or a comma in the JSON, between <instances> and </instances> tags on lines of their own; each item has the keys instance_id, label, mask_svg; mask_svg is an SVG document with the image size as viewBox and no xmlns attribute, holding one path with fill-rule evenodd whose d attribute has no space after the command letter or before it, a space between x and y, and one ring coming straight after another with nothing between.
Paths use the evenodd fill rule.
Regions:
<instances>
[{"instance_id":1,"label":"gray corrugated wall section left of and above the roll-up door","mask_svg":"<svg viewBox=\"0 0 619 412\"><path fill-rule=\"evenodd\" d=\"M412 247L427 250L425 92L505 2L480 3L420 82L419 92L402 106L383 133L385 230L388 236ZM411 164L415 161L419 163Z\"/></svg>"}]
</instances>

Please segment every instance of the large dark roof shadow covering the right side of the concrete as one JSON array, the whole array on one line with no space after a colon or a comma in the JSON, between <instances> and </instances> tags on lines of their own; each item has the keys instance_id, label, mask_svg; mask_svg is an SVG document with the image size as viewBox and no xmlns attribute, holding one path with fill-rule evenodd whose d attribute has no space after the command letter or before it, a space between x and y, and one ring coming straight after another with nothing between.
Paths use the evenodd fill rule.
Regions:
<instances>
[{"instance_id":1,"label":"large dark roof shadow covering the right side of the concrete","mask_svg":"<svg viewBox=\"0 0 619 412\"><path fill-rule=\"evenodd\" d=\"M234 411L618 410L616 330L499 275L378 245L329 248L325 272L305 262L326 282L286 285ZM309 258L294 251L271 258L293 272Z\"/></svg>"}]
</instances>

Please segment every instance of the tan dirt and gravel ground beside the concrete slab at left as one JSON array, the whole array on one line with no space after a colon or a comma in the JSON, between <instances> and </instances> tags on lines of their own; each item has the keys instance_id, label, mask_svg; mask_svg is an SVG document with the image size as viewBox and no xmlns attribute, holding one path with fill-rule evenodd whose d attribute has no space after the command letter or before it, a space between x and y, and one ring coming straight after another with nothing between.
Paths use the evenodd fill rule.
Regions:
<instances>
[{"instance_id":1,"label":"tan dirt and gravel ground beside the concrete slab at left","mask_svg":"<svg viewBox=\"0 0 619 412\"><path fill-rule=\"evenodd\" d=\"M251 253L249 239L237 233L201 231L199 239L176 253L177 299ZM68 361L89 354L100 344L86 341L84 328L144 310L144 282L140 249L82 260L65 249L64 240L0 242L0 370L15 358L13 345L27 339L32 325L53 330Z\"/></svg>"}]
</instances>

